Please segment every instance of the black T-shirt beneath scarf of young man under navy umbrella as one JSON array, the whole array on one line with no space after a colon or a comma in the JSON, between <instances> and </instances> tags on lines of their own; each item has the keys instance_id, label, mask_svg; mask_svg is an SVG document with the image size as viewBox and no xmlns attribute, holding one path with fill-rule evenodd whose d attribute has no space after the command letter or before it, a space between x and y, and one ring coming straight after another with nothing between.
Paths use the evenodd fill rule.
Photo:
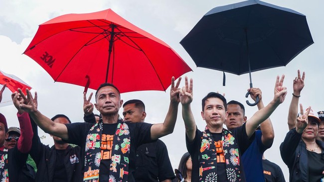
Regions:
<instances>
[{"instance_id":1,"label":"black T-shirt beneath scarf of young man under navy umbrella","mask_svg":"<svg viewBox=\"0 0 324 182\"><path fill-rule=\"evenodd\" d=\"M247 134L246 134L246 130L245 130L245 124L243 124L241 127L235 128L233 130L231 130L233 137L235 137L235 142L238 143L239 146L239 157L241 158L242 154L247 150L247 148L250 146L251 141L249 140ZM218 140L215 139L215 134L212 134L214 137L215 142L217 142ZM187 146L187 150L191 155L191 159L192 159L192 176L191 176L191 182L198 182L199 181L199 155L200 155L200 147L201 147L201 138L202 138L202 132L199 131L198 129L196 129L196 133L195 133L195 138L193 139L192 142L188 141L188 137L186 136L186 146ZM229 152L229 151L227 151ZM225 167L225 165L224 165ZM223 167L223 168L224 168ZM240 165L241 168L243 168L243 165ZM217 164L217 172L221 172L221 168L218 164ZM223 169L223 171L225 172L226 169ZM244 173L241 174L242 175L242 181L241 182L245 182L245 175ZM224 178L225 177L225 178ZM221 179L225 179L225 180L221 180ZM226 173L225 174L218 174L218 181L219 182L227 182L227 177L226 177Z\"/></svg>"}]
</instances>

